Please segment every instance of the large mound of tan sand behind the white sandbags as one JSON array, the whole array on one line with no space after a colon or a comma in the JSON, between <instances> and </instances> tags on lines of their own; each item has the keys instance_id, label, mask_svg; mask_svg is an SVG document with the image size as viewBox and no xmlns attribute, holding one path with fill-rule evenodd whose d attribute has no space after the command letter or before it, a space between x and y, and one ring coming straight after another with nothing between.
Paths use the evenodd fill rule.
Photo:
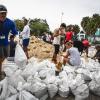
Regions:
<instances>
[{"instance_id":1,"label":"large mound of tan sand behind the white sandbags","mask_svg":"<svg viewBox=\"0 0 100 100\"><path fill-rule=\"evenodd\" d=\"M28 47L29 58L33 56L39 59L51 58L54 51L53 49L53 45L33 36L30 38Z\"/></svg>"}]
</instances>

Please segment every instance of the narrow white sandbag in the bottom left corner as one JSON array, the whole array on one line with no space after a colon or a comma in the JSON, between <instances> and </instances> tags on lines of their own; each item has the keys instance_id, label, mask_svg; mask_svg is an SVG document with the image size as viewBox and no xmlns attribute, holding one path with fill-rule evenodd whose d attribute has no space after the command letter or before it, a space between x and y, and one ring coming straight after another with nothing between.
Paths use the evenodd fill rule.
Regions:
<instances>
[{"instance_id":1,"label":"narrow white sandbag in the bottom left corner","mask_svg":"<svg viewBox=\"0 0 100 100\"><path fill-rule=\"evenodd\" d=\"M8 89L8 82L7 82L7 77L1 81L1 88L2 88L2 91L0 93L0 100L5 100L6 98L6 94L7 94L7 89Z\"/></svg>"}]
</instances>

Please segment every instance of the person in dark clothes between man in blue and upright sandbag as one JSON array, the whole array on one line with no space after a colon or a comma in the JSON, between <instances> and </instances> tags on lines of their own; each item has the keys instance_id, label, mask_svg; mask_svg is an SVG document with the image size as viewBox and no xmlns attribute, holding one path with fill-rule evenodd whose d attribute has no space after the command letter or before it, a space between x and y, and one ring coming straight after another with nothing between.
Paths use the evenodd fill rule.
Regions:
<instances>
[{"instance_id":1,"label":"person in dark clothes between man in blue and upright sandbag","mask_svg":"<svg viewBox=\"0 0 100 100\"><path fill-rule=\"evenodd\" d=\"M15 56L15 48L17 43L14 41L14 35L10 36L10 56L9 57L14 57Z\"/></svg>"}]
</instances>

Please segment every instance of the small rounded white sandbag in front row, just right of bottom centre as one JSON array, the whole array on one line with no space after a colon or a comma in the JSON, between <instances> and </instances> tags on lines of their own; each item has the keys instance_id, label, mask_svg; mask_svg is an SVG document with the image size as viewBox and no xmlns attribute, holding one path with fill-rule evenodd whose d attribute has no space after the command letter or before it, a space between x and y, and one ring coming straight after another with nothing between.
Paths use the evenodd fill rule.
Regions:
<instances>
[{"instance_id":1,"label":"small rounded white sandbag in front row, just right of bottom centre","mask_svg":"<svg viewBox=\"0 0 100 100\"><path fill-rule=\"evenodd\" d=\"M64 87L63 85L60 85L58 93L61 97L68 97L69 87Z\"/></svg>"}]
</instances>

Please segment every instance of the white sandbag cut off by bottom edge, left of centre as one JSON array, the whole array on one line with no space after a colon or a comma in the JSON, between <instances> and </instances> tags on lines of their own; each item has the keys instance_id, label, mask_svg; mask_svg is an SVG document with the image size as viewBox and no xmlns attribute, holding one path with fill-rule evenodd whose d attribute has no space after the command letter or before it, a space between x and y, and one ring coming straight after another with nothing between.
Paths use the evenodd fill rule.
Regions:
<instances>
[{"instance_id":1,"label":"white sandbag cut off by bottom edge, left of centre","mask_svg":"<svg viewBox=\"0 0 100 100\"><path fill-rule=\"evenodd\" d=\"M20 91L19 93L19 100L39 100L39 99L30 94L29 92L23 90Z\"/></svg>"}]
</instances>

